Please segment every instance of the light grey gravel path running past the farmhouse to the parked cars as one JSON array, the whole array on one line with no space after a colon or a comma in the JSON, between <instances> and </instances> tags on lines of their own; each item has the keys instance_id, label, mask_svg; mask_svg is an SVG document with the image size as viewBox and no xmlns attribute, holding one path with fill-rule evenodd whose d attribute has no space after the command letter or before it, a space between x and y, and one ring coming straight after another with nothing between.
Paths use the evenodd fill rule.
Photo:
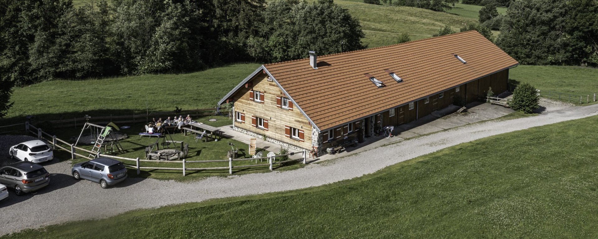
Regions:
<instances>
[{"instance_id":1,"label":"light grey gravel path running past the farmhouse to the parked cars","mask_svg":"<svg viewBox=\"0 0 598 239\"><path fill-rule=\"evenodd\" d=\"M23 197L11 194L0 201L0 235L71 220L114 216L133 209L324 185L374 173L392 164L459 143L592 115L598 115L598 105L551 111L536 117L466 125L383 146L376 149L376 157L365 151L297 170L210 177L191 183L129 178L115 188L101 189L97 183L72 179L68 161L45 164L44 167L52 173L50 186Z\"/></svg>"}]
</instances>

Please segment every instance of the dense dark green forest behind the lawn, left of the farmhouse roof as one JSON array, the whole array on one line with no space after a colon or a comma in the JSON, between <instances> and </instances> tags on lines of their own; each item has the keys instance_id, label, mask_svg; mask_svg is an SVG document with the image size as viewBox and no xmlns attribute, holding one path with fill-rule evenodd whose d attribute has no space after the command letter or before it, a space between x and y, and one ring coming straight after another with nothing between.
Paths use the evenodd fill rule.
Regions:
<instances>
[{"instance_id":1,"label":"dense dark green forest behind the lawn, left of the farmhouse roof","mask_svg":"<svg viewBox=\"0 0 598 239\"><path fill-rule=\"evenodd\" d=\"M358 20L332 0L0 0L0 11L0 74L16 85L365 48Z\"/></svg>"}]
</instances>

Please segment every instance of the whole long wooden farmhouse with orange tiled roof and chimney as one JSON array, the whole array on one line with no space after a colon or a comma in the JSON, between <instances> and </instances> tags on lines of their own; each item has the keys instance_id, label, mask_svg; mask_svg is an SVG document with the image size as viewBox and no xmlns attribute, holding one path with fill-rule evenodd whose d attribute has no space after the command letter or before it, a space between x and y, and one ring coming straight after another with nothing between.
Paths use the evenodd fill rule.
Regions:
<instances>
[{"instance_id":1,"label":"whole long wooden farmhouse with orange tiled roof and chimney","mask_svg":"<svg viewBox=\"0 0 598 239\"><path fill-rule=\"evenodd\" d=\"M224 98L233 128L292 149L326 152L507 91L518 62L475 30L263 65Z\"/></svg>"}]
</instances>

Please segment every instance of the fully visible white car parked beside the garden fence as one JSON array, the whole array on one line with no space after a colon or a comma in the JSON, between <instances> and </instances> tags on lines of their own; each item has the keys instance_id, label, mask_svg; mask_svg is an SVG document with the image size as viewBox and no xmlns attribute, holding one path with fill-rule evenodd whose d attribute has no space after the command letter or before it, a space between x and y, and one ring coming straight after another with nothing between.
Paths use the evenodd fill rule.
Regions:
<instances>
[{"instance_id":1,"label":"fully visible white car parked beside the garden fence","mask_svg":"<svg viewBox=\"0 0 598 239\"><path fill-rule=\"evenodd\" d=\"M42 163L54 159L52 148L39 139L12 146L8 150L8 154L17 160L31 161L32 163Z\"/></svg>"}]
</instances>

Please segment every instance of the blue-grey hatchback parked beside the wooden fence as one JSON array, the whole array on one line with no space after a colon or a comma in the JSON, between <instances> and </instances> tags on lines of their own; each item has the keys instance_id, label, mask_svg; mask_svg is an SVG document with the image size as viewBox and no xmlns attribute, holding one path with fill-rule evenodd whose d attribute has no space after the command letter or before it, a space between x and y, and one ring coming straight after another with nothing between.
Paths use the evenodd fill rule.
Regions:
<instances>
[{"instance_id":1,"label":"blue-grey hatchback parked beside the wooden fence","mask_svg":"<svg viewBox=\"0 0 598 239\"><path fill-rule=\"evenodd\" d=\"M87 179L100 183L102 188L108 188L108 186L123 182L127 178L127 168L123 163L105 157L75 164L71 173L77 180Z\"/></svg>"}]
</instances>

